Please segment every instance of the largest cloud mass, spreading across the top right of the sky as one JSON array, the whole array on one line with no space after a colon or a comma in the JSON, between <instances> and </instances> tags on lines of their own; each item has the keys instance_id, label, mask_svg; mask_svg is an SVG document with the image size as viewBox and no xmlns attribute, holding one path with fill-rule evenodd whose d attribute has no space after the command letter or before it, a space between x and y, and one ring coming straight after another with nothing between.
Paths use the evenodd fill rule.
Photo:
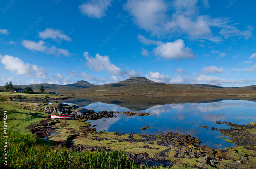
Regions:
<instances>
[{"instance_id":1,"label":"largest cloud mass, spreading across the top right of the sky","mask_svg":"<svg viewBox=\"0 0 256 169\"><path fill-rule=\"evenodd\" d=\"M146 3L145 3L146 2ZM227 17L212 18L207 15L200 15L200 10L209 7L208 0L187 1L174 0L166 2L163 0L128 0L124 4L124 10L133 18L135 24L140 28L154 32L161 31L162 36L185 35L197 40L206 39L219 44L231 36L240 36L248 39L253 36L252 26L245 30L239 30L235 26L238 23ZM188 3L187 6L184 6ZM184 6L184 7L182 7ZM212 27L221 36L212 32ZM203 30L203 31L202 31Z\"/></svg>"}]
</instances>

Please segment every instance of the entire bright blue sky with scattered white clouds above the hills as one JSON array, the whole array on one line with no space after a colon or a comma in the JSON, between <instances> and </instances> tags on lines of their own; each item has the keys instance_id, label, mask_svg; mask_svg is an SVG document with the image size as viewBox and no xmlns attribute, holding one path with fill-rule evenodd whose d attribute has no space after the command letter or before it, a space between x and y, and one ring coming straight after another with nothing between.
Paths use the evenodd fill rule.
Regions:
<instances>
[{"instance_id":1,"label":"entire bright blue sky with scattered white clouds above the hills","mask_svg":"<svg viewBox=\"0 0 256 169\"><path fill-rule=\"evenodd\" d=\"M1 84L255 85L255 2L208 0L0 3Z\"/></svg>"}]
</instances>

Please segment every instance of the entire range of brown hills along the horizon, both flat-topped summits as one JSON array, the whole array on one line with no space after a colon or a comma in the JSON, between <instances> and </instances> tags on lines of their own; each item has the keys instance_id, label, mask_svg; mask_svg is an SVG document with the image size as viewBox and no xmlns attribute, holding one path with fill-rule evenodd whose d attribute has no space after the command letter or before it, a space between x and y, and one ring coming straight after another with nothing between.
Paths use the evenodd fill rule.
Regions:
<instances>
[{"instance_id":1,"label":"entire range of brown hills along the horizon, both flat-topped summits","mask_svg":"<svg viewBox=\"0 0 256 169\"><path fill-rule=\"evenodd\" d=\"M118 83L93 85L87 81L78 81L68 85L43 83L46 92L86 95L256 95L256 85L246 87L222 87L207 84L166 84L149 80L145 77L131 77ZM32 87L38 91L41 84L19 85L14 87ZM3 86L0 87L3 90Z\"/></svg>"}]
</instances>

